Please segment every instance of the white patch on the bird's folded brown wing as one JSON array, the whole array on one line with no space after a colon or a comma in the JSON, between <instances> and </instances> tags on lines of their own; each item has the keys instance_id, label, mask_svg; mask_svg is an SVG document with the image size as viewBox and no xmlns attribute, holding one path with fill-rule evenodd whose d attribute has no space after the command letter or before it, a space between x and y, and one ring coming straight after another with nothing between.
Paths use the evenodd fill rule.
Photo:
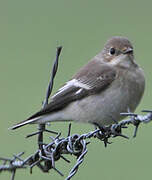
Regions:
<instances>
[{"instance_id":1,"label":"white patch on the bird's folded brown wing","mask_svg":"<svg viewBox=\"0 0 152 180\"><path fill-rule=\"evenodd\" d=\"M62 92L66 91L68 88L70 88L71 86L75 86L75 87L79 87L80 89L76 92L76 94L80 93L82 89L87 89L89 90L91 87L88 84L84 84L82 82L80 82L77 79L72 79L71 81L68 81L63 87L61 87L58 92L56 94L54 94L54 96L52 96L52 98L54 98L55 96L61 94Z\"/></svg>"}]
</instances>

